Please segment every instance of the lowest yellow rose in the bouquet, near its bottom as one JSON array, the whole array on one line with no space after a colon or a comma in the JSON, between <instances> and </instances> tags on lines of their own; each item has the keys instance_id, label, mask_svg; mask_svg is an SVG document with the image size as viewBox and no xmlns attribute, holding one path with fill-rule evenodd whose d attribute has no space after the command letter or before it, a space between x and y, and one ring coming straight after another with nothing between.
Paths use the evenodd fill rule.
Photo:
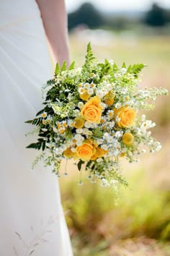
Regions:
<instances>
[{"instance_id":1,"label":"lowest yellow rose in the bouquet, near its bottom","mask_svg":"<svg viewBox=\"0 0 170 256\"><path fill-rule=\"evenodd\" d=\"M89 161L95 153L96 148L87 142L76 148L76 158L80 158L82 161Z\"/></svg>"}]
</instances>

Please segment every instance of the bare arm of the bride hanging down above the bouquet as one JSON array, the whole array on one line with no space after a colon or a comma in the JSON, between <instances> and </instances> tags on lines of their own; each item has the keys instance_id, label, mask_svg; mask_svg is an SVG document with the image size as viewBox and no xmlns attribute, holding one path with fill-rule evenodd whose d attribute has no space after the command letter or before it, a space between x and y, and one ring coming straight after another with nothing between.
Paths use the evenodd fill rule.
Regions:
<instances>
[{"instance_id":1,"label":"bare arm of the bride hanging down above the bouquet","mask_svg":"<svg viewBox=\"0 0 170 256\"><path fill-rule=\"evenodd\" d=\"M55 62L69 64L68 24L64 0L36 0Z\"/></svg>"}]
</instances>

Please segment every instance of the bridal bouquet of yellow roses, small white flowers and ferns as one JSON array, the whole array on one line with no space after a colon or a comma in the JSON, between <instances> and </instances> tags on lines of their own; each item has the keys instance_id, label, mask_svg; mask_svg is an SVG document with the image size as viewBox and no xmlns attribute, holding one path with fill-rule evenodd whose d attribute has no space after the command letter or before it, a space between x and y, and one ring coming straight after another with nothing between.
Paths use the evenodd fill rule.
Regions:
<instances>
[{"instance_id":1,"label":"bridal bouquet of yellow roses, small white flowers and ferns","mask_svg":"<svg viewBox=\"0 0 170 256\"><path fill-rule=\"evenodd\" d=\"M53 166L60 176L63 159L73 159L79 171L88 171L91 182L102 185L124 184L120 175L120 158L138 161L144 153L161 149L160 142L148 129L156 124L138 114L151 110L157 95L166 95L163 88L138 88L138 75L143 64L117 67L114 61L99 62L87 46L86 61L81 68L74 62L56 64L55 75L42 87L44 108L33 120L37 142L27 148L42 150L35 163L43 158L45 166ZM67 174L67 172L65 172ZM80 184L82 183L80 179Z\"/></svg>"}]
</instances>

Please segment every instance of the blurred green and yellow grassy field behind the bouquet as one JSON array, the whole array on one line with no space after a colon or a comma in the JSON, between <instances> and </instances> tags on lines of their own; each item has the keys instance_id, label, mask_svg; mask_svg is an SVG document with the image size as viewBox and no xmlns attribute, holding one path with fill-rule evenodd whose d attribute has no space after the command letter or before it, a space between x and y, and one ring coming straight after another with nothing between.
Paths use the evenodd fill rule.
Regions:
<instances>
[{"instance_id":1,"label":"blurred green and yellow grassy field behind the bouquet","mask_svg":"<svg viewBox=\"0 0 170 256\"><path fill-rule=\"evenodd\" d=\"M70 30L71 59L81 65L86 44L91 41L100 60L146 64L141 87L170 90L170 23L154 26L133 19L133 25L129 20L117 29L115 24L119 27L122 17L115 23L115 16L110 19L113 24L109 27L100 24L91 29L85 23ZM117 205L112 189L91 184L86 174L84 185L78 186L76 166L68 163L69 176L63 176L60 183L75 256L170 255L169 96L159 97L156 108L145 114L156 122L153 135L162 150L146 153L140 163L122 162L129 188L122 189Z\"/></svg>"}]
</instances>

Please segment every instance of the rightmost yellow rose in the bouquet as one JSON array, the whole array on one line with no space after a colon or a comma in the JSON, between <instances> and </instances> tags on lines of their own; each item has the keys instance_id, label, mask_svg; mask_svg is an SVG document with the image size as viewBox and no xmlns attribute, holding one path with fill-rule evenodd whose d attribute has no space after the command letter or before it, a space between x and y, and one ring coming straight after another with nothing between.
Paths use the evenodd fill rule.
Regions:
<instances>
[{"instance_id":1,"label":"rightmost yellow rose in the bouquet","mask_svg":"<svg viewBox=\"0 0 170 256\"><path fill-rule=\"evenodd\" d=\"M127 106L115 109L115 117L120 118L117 121L117 125L120 128L127 128L133 125L135 121L135 110L133 108L128 108Z\"/></svg>"}]
</instances>

